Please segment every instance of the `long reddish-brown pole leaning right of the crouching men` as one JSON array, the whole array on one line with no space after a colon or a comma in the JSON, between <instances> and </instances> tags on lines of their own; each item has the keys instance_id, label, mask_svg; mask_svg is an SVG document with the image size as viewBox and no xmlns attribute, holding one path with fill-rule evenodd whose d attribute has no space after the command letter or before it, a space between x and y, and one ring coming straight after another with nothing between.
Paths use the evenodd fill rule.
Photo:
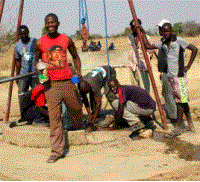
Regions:
<instances>
[{"instance_id":1,"label":"long reddish-brown pole leaning right of the crouching men","mask_svg":"<svg viewBox=\"0 0 200 182\"><path fill-rule=\"evenodd\" d=\"M140 44L141 44L142 52L143 52L144 59L145 59L147 69L148 69L148 72L149 72L149 76L150 76L150 79L151 79L151 83L152 83L152 87L153 87L153 90L154 90L154 95L155 95L156 102L157 102L157 105L158 105L161 120L162 120L164 128L167 129L166 117L165 117L165 114L164 114L163 109L161 107L161 102L160 102L160 98L159 98L159 95L158 95L158 90L157 90L157 87L156 87L156 84L155 84L155 80L154 80L154 77L153 77L153 72L152 72L152 69L151 69L149 57L147 55L147 51L146 51L146 48L145 48L143 40L142 40L141 32L138 28L139 23L137 21L137 16L136 16L136 11L135 11L135 8L134 8L134 5L133 5L133 1L128 0L128 3L129 3L129 6L130 6L130 9L131 9L133 20L135 22L136 30L137 30L137 33L138 33L138 38L139 38L139 41L140 41Z\"/></svg>"}]
</instances>

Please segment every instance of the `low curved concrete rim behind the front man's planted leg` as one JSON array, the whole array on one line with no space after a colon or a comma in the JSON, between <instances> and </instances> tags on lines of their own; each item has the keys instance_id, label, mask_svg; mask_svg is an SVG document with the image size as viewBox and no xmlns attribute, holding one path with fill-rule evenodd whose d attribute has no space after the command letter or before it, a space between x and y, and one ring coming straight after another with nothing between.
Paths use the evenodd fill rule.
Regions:
<instances>
[{"instance_id":1,"label":"low curved concrete rim behind the front man's planted leg","mask_svg":"<svg viewBox=\"0 0 200 182\"><path fill-rule=\"evenodd\" d=\"M117 140L119 134L128 138L129 131L96 131L86 133L85 130L66 132L66 142L68 145L87 145L113 142ZM50 129L47 127L15 126L10 128L8 124L3 124L3 141L8 144L20 147L49 148Z\"/></svg>"}]
</instances>

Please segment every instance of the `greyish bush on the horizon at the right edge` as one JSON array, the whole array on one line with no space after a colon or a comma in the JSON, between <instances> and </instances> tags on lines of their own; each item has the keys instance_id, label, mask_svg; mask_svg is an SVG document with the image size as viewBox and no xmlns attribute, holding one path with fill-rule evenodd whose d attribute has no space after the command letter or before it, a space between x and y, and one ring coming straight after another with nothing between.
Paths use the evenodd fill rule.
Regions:
<instances>
[{"instance_id":1,"label":"greyish bush on the horizon at the right edge","mask_svg":"<svg viewBox=\"0 0 200 182\"><path fill-rule=\"evenodd\" d=\"M183 24L183 33L186 36L197 36L200 34L200 24L195 21L187 21Z\"/></svg>"}]
</instances>

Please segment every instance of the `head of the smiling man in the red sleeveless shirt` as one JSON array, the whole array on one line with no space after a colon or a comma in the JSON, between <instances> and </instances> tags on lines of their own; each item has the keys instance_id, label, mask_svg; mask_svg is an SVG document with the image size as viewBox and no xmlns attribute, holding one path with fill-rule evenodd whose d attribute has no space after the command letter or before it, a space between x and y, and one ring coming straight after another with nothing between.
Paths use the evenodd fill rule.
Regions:
<instances>
[{"instance_id":1,"label":"head of the smiling man in the red sleeveless shirt","mask_svg":"<svg viewBox=\"0 0 200 182\"><path fill-rule=\"evenodd\" d=\"M48 32L48 35L57 34L58 27L60 26L60 22L58 21L58 17L54 13L49 13L45 17L45 29Z\"/></svg>"}]
</instances>

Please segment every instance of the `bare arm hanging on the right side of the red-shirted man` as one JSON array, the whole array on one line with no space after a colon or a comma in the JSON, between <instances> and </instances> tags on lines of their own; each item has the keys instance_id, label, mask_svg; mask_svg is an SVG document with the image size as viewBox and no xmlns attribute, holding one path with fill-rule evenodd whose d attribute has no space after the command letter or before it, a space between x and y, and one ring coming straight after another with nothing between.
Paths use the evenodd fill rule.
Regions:
<instances>
[{"instance_id":1,"label":"bare arm hanging on the right side of the red-shirted man","mask_svg":"<svg viewBox=\"0 0 200 182\"><path fill-rule=\"evenodd\" d=\"M76 47L74 45L74 42L72 41L71 38L68 37L68 42L69 42L69 46L68 46L68 50L70 52L70 54L73 57L74 60L74 66L76 68L76 72L77 72L77 76L79 78L82 78L82 74L81 74L81 60L80 57L77 53Z\"/></svg>"}]
</instances>

